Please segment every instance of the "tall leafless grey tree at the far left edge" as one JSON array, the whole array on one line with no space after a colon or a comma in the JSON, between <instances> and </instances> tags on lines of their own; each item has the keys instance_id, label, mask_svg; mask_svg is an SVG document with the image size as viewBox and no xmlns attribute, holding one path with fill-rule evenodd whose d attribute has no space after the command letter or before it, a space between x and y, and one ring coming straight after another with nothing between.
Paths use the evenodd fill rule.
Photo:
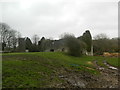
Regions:
<instances>
[{"instance_id":1,"label":"tall leafless grey tree at the far left edge","mask_svg":"<svg viewBox=\"0 0 120 90\"><path fill-rule=\"evenodd\" d=\"M2 43L2 50L5 47L15 48L18 39L18 32L10 28L6 23L0 23L0 39Z\"/></svg>"}]
</instances>

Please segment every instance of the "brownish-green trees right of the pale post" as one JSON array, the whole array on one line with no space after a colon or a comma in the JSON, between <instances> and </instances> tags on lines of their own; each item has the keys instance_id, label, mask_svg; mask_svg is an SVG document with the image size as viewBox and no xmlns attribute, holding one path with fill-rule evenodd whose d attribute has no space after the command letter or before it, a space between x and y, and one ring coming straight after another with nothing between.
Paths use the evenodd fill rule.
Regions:
<instances>
[{"instance_id":1,"label":"brownish-green trees right of the pale post","mask_svg":"<svg viewBox=\"0 0 120 90\"><path fill-rule=\"evenodd\" d=\"M94 37L93 50L95 55L102 55L103 52L120 52L120 38L108 38L106 34L99 34Z\"/></svg>"}]
</instances>

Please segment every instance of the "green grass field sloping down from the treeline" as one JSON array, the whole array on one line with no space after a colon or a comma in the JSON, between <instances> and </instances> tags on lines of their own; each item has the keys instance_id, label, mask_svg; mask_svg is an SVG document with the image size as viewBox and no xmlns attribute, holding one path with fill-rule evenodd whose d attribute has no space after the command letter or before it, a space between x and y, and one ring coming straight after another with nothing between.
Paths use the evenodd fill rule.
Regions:
<instances>
[{"instance_id":1,"label":"green grass field sloping down from the treeline","mask_svg":"<svg viewBox=\"0 0 120 90\"><path fill-rule=\"evenodd\" d=\"M2 61L3 88L52 87L64 82L58 77L62 69L99 75L93 61L106 60L118 66L118 58L100 56L73 57L60 52L5 53Z\"/></svg>"}]
</instances>

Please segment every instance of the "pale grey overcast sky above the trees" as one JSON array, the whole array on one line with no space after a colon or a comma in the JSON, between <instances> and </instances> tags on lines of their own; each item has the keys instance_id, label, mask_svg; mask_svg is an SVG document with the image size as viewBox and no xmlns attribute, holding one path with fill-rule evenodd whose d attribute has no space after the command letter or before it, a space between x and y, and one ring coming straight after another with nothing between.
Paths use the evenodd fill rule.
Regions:
<instances>
[{"instance_id":1,"label":"pale grey overcast sky above the trees","mask_svg":"<svg viewBox=\"0 0 120 90\"><path fill-rule=\"evenodd\" d=\"M5 1L5 0L4 0ZM82 0L12 0L0 2L0 22L7 23L22 36L57 39L64 32L81 36L106 33L118 36L118 3Z\"/></svg>"}]
</instances>

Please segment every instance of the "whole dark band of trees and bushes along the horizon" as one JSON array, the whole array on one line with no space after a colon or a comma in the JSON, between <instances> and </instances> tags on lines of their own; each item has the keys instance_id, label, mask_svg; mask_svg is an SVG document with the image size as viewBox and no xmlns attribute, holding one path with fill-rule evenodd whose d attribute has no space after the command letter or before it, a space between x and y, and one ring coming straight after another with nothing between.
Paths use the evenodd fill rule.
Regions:
<instances>
[{"instance_id":1,"label":"whole dark band of trees and bushes along the horizon","mask_svg":"<svg viewBox=\"0 0 120 90\"><path fill-rule=\"evenodd\" d=\"M1 50L9 52L44 52L44 51L67 51L70 55L79 56L101 55L103 52L119 52L119 38L108 38L105 34L99 34L92 39L89 30L86 30L82 36L75 37L73 34L64 34L59 40L39 38L34 35L22 38L21 34L13 30L9 25L0 23Z\"/></svg>"}]
</instances>

